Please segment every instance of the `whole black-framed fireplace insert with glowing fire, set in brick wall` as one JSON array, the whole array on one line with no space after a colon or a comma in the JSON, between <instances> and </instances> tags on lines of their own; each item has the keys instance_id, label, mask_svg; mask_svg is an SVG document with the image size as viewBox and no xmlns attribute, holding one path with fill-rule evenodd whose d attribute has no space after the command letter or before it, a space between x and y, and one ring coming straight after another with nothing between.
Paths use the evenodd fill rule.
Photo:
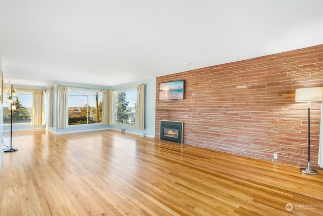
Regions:
<instances>
[{"instance_id":1,"label":"whole black-framed fireplace insert with glowing fire, set in brick wall","mask_svg":"<svg viewBox=\"0 0 323 216\"><path fill-rule=\"evenodd\" d=\"M183 143L183 121L160 120L160 140Z\"/></svg>"}]
</instances>

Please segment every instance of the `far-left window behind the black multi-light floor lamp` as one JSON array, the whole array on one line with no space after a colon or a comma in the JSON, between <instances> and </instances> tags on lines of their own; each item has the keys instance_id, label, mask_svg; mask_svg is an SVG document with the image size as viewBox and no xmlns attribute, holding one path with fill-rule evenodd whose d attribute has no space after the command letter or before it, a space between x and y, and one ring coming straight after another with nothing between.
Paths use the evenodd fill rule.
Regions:
<instances>
[{"instance_id":1,"label":"far-left window behind the black multi-light floor lamp","mask_svg":"<svg viewBox=\"0 0 323 216\"><path fill-rule=\"evenodd\" d=\"M12 111L12 123L31 123L32 91L17 91L18 97L13 97L16 110ZM4 95L4 124L10 124L11 106L6 103L8 96Z\"/></svg>"}]
</instances>

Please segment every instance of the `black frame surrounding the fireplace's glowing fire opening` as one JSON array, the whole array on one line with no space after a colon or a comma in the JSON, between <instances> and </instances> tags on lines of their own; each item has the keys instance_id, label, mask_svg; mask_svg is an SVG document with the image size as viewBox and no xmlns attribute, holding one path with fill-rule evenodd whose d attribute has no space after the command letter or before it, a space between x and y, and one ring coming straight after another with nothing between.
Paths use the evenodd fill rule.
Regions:
<instances>
[{"instance_id":1,"label":"black frame surrounding the fireplace's glowing fire opening","mask_svg":"<svg viewBox=\"0 0 323 216\"><path fill-rule=\"evenodd\" d=\"M164 136L164 127L177 129L179 133L178 138ZM160 120L159 134L160 140L168 140L183 144L183 121Z\"/></svg>"}]
</instances>

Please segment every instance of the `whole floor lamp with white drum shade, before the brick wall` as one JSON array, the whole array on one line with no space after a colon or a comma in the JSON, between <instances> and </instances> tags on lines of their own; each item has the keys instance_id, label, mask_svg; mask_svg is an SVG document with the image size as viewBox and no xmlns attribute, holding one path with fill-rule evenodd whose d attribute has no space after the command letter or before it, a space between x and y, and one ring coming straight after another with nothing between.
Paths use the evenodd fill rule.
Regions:
<instances>
[{"instance_id":1,"label":"whole floor lamp with white drum shade, before the brick wall","mask_svg":"<svg viewBox=\"0 0 323 216\"><path fill-rule=\"evenodd\" d=\"M308 110L308 135L307 135L307 167L302 167L299 170L303 172L304 174L309 174L309 175L318 175L318 172L314 169L311 169L309 167L309 149L310 149L310 118L309 118L309 113L310 113L310 106L311 106L311 101L322 101L323 98L323 87L315 87L315 88L302 88L302 89L296 89L295 92L295 101L296 102L307 102L307 110Z\"/></svg>"}]
</instances>

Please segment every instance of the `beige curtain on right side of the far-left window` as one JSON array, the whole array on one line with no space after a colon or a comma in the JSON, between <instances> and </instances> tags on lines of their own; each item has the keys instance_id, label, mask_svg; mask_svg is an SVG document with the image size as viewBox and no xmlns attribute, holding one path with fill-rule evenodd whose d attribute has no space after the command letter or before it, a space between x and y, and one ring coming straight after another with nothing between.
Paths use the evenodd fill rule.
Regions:
<instances>
[{"instance_id":1,"label":"beige curtain on right side of the far-left window","mask_svg":"<svg viewBox=\"0 0 323 216\"><path fill-rule=\"evenodd\" d=\"M31 125L42 125L44 91L32 91Z\"/></svg>"}]
</instances>

